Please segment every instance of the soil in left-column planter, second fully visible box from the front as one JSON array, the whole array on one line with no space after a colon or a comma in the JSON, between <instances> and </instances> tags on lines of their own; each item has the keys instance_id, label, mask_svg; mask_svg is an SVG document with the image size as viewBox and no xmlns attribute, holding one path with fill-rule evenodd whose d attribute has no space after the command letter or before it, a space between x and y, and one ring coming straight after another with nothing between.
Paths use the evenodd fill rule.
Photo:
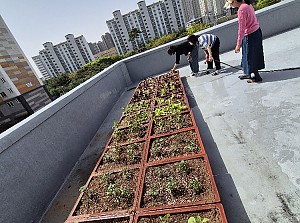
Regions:
<instances>
[{"instance_id":1,"label":"soil in left-column planter, second fully visible box from the front","mask_svg":"<svg viewBox=\"0 0 300 223\"><path fill-rule=\"evenodd\" d=\"M104 154L97 171L114 169L128 165L139 164L144 151L144 142L133 143L126 146L109 148Z\"/></svg>"}]
</instances>

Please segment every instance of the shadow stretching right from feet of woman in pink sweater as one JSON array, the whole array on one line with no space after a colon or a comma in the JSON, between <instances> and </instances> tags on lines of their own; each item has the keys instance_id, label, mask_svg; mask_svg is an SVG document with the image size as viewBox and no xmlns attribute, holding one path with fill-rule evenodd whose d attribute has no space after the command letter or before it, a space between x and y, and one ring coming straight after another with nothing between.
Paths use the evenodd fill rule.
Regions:
<instances>
[{"instance_id":1,"label":"shadow stretching right from feet of woman in pink sweater","mask_svg":"<svg viewBox=\"0 0 300 223\"><path fill-rule=\"evenodd\" d=\"M261 72L261 77L263 82L275 82L284 81L300 77L300 69L296 70L286 70L286 71L275 71L275 72Z\"/></svg>"}]
</instances>

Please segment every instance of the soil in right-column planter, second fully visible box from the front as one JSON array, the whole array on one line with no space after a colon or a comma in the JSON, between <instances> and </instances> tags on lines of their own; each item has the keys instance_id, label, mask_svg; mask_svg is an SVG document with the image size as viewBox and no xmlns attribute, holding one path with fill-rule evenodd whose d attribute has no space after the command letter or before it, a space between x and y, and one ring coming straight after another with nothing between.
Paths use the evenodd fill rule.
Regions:
<instances>
[{"instance_id":1,"label":"soil in right-column planter, second fully visible box from the front","mask_svg":"<svg viewBox=\"0 0 300 223\"><path fill-rule=\"evenodd\" d=\"M149 161L200 153L195 131L181 132L154 139L150 144Z\"/></svg>"}]
</instances>

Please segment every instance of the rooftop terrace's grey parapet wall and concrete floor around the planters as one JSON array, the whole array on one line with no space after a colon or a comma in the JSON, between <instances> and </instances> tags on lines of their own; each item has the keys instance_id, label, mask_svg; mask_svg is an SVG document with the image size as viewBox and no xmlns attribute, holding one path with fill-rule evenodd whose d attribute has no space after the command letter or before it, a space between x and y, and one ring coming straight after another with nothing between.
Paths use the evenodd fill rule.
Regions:
<instances>
[{"instance_id":1,"label":"rooftop terrace's grey parapet wall and concrete floor around the planters","mask_svg":"<svg viewBox=\"0 0 300 223\"><path fill-rule=\"evenodd\" d=\"M266 70L299 67L299 10L286 0L258 12ZM206 31L220 37L221 60L238 66L237 20ZM0 135L0 222L66 219L136 83L174 64L169 45L119 61ZM247 84L226 66L216 77L190 77L181 61L228 221L299 222L299 69Z\"/></svg>"}]
</instances>

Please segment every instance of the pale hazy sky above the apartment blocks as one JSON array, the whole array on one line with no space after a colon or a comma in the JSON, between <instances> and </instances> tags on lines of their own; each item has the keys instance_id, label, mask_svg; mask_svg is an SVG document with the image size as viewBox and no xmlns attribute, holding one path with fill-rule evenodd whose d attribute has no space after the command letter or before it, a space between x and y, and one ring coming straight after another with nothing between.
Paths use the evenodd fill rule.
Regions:
<instances>
[{"instance_id":1,"label":"pale hazy sky above the apartment blocks","mask_svg":"<svg viewBox=\"0 0 300 223\"><path fill-rule=\"evenodd\" d=\"M27 58L49 41L65 41L65 35L84 35L88 42L100 40L108 32L105 21L120 9L127 13L137 8L139 0L0 0L0 14ZM155 0L146 0L151 4ZM39 72L37 71L39 74Z\"/></svg>"}]
</instances>

